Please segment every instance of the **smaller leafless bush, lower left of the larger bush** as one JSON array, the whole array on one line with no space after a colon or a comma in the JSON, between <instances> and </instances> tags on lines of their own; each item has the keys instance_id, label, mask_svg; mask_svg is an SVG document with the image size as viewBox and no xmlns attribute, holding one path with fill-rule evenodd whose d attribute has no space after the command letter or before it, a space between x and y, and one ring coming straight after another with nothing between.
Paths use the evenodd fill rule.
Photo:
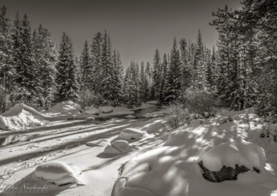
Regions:
<instances>
[{"instance_id":1,"label":"smaller leafless bush, lower left of the larger bush","mask_svg":"<svg viewBox=\"0 0 277 196\"><path fill-rule=\"evenodd\" d=\"M170 129L176 129L179 126L184 126L184 124L188 123L188 110L180 104L171 105L168 110L170 111L170 115L166 117L166 125Z\"/></svg>"}]
</instances>

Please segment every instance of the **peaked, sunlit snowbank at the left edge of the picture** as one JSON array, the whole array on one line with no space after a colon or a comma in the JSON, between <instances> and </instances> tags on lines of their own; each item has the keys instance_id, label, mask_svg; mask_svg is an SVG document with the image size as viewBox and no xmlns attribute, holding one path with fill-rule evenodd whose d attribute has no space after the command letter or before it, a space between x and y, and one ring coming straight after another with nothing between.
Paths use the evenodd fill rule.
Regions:
<instances>
[{"instance_id":1,"label":"peaked, sunlit snowbank at the left edge of the picture","mask_svg":"<svg viewBox=\"0 0 277 196\"><path fill-rule=\"evenodd\" d=\"M0 129L21 130L30 126L43 126L48 123L46 115L25 104L17 104L0 115Z\"/></svg>"}]
</instances>

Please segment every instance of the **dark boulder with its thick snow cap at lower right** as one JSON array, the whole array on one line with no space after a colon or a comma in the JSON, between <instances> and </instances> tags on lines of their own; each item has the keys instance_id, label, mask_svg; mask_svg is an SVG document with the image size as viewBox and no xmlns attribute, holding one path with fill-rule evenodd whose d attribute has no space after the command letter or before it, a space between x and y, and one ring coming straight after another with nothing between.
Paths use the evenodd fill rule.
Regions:
<instances>
[{"instance_id":1,"label":"dark boulder with its thick snow cap at lower right","mask_svg":"<svg viewBox=\"0 0 277 196\"><path fill-rule=\"evenodd\" d=\"M238 174L265 167L265 151L249 142L226 142L199 157L203 175L211 182L238 179Z\"/></svg>"}]
</instances>

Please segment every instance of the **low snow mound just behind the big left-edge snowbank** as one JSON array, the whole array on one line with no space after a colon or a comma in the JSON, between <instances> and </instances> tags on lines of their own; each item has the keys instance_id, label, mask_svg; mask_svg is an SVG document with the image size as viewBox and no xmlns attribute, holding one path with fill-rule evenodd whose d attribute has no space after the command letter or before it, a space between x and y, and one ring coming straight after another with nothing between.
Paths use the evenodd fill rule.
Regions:
<instances>
[{"instance_id":1,"label":"low snow mound just behind the big left-edge snowbank","mask_svg":"<svg viewBox=\"0 0 277 196\"><path fill-rule=\"evenodd\" d=\"M45 112L51 112L62 115L78 115L82 109L73 101L62 101Z\"/></svg>"}]
</instances>

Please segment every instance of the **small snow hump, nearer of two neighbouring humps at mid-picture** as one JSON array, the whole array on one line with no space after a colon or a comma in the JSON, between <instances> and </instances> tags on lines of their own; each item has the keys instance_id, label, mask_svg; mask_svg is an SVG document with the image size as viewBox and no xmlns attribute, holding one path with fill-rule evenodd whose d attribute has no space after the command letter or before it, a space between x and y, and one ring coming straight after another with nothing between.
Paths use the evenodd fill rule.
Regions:
<instances>
[{"instance_id":1,"label":"small snow hump, nearer of two neighbouring humps at mid-picture","mask_svg":"<svg viewBox=\"0 0 277 196\"><path fill-rule=\"evenodd\" d=\"M128 153L132 151L132 146L129 146L129 143L125 140L116 140L111 142L110 146L106 146L103 153L105 154L120 154Z\"/></svg>"}]
</instances>

